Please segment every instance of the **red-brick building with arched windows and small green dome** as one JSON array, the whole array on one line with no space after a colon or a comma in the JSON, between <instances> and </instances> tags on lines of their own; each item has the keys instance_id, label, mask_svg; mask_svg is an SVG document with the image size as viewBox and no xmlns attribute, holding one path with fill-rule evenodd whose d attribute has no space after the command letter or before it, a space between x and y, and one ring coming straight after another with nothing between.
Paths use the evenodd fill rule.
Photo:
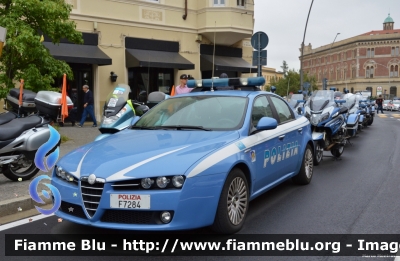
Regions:
<instances>
[{"instance_id":1,"label":"red-brick building with arched windows and small green dome","mask_svg":"<svg viewBox=\"0 0 400 261\"><path fill-rule=\"evenodd\" d=\"M302 61L305 74L323 72L316 75L320 89L326 78L330 87L351 92L370 90L372 96L382 94L385 98L400 96L400 29L394 29L390 14L382 30L318 48L304 46Z\"/></svg>"}]
</instances>

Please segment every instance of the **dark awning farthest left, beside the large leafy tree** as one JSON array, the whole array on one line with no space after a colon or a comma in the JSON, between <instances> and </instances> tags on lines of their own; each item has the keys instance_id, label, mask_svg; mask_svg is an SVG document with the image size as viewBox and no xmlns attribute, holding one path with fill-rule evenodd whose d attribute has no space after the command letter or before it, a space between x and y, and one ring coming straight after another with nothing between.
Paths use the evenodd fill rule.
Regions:
<instances>
[{"instance_id":1,"label":"dark awning farthest left, beside the large leafy tree","mask_svg":"<svg viewBox=\"0 0 400 261\"><path fill-rule=\"evenodd\" d=\"M43 42L43 45L49 49L54 58L67 63L112 64L112 59L96 45L53 44L50 42Z\"/></svg>"}]
</instances>

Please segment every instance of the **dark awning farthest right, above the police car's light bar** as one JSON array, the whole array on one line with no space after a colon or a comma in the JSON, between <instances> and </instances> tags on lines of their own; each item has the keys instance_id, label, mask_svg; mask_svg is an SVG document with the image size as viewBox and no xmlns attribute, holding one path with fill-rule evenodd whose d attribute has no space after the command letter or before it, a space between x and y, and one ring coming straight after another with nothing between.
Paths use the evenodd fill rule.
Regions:
<instances>
[{"instance_id":1,"label":"dark awning farthest right, above the police car's light bar","mask_svg":"<svg viewBox=\"0 0 400 261\"><path fill-rule=\"evenodd\" d=\"M255 73L257 67L252 66L250 63L240 57L229 56L215 56L214 64L216 71L235 71L242 73ZM212 71L213 70L213 56L202 54L200 56L200 70Z\"/></svg>"}]
</instances>

